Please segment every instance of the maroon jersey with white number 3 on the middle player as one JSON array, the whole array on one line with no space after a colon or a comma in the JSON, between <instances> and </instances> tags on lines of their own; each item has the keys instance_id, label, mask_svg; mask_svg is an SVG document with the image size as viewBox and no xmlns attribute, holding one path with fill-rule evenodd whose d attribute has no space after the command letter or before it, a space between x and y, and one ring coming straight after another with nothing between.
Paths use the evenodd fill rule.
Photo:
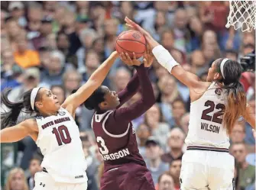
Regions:
<instances>
[{"instance_id":1,"label":"maroon jersey with white number 3 on the middle player","mask_svg":"<svg viewBox=\"0 0 256 190\"><path fill-rule=\"evenodd\" d=\"M104 159L105 169L112 169L113 166L125 163L138 163L141 166L146 166L139 153L131 122L115 119L116 111L105 111L103 114L95 113L92 117L92 129L99 152Z\"/></svg>"}]
</instances>

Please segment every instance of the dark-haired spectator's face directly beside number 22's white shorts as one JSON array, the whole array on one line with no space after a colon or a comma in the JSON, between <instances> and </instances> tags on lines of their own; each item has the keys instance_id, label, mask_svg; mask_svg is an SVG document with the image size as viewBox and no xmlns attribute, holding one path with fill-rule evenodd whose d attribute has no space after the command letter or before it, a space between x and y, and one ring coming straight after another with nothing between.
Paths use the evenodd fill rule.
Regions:
<instances>
[{"instance_id":1,"label":"dark-haired spectator's face directly beside number 22's white shorts","mask_svg":"<svg viewBox=\"0 0 256 190\"><path fill-rule=\"evenodd\" d=\"M180 189L180 169L181 169L181 159L173 159L170 163L169 172L173 177L174 189Z\"/></svg>"}]
</instances>

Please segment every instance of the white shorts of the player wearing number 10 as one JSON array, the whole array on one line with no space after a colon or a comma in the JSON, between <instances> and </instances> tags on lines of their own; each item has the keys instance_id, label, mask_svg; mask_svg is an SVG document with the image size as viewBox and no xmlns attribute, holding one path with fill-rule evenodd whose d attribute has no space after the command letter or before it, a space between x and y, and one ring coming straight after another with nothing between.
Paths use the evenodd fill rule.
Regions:
<instances>
[{"instance_id":1,"label":"white shorts of the player wearing number 10","mask_svg":"<svg viewBox=\"0 0 256 190\"><path fill-rule=\"evenodd\" d=\"M87 182L63 183L55 182L47 172L37 172L34 176L33 190L86 190Z\"/></svg>"}]
</instances>

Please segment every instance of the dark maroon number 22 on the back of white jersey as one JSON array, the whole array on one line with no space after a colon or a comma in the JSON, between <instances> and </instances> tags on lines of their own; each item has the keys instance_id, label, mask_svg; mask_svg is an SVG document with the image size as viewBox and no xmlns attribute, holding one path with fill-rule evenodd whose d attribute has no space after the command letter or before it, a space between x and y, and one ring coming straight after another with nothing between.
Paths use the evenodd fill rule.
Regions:
<instances>
[{"instance_id":1,"label":"dark maroon number 22 on the back of white jersey","mask_svg":"<svg viewBox=\"0 0 256 190\"><path fill-rule=\"evenodd\" d=\"M212 121L218 124L222 124L222 118L219 118L220 116L222 116L222 114L224 114L224 109L225 109L225 105L222 104L218 104L215 105L213 101L206 101L205 106L209 106L209 108L207 108L206 110L203 111L202 114L202 118L203 120L206 121ZM209 113L211 113L212 111L214 111L214 108L219 109L218 112L215 112L213 114L213 116L210 116Z\"/></svg>"}]
</instances>

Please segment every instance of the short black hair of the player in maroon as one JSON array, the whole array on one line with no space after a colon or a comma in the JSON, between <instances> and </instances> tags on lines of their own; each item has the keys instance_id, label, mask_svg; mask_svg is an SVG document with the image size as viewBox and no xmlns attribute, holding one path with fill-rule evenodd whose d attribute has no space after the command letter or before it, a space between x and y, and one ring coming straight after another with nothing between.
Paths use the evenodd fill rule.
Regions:
<instances>
[{"instance_id":1,"label":"short black hair of the player in maroon","mask_svg":"<svg viewBox=\"0 0 256 190\"><path fill-rule=\"evenodd\" d=\"M72 91L72 94L75 93L77 89ZM89 96L89 98L86 99L86 101L83 102L83 105L89 109L89 110L100 110L99 103L102 101L105 101L105 92L102 90L102 86L100 86L98 89L96 89L95 92L92 93L92 95Z\"/></svg>"}]
</instances>

